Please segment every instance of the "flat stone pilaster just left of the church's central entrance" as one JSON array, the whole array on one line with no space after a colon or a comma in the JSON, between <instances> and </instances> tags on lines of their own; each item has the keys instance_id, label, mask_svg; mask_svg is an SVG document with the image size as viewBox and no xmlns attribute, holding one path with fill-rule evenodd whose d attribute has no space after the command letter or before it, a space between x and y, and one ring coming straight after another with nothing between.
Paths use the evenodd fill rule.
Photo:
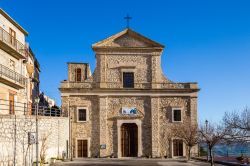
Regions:
<instances>
[{"instance_id":1,"label":"flat stone pilaster just left of the church's central entrance","mask_svg":"<svg viewBox=\"0 0 250 166\"><path fill-rule=\"evenodd\" d=\"M99 109L100 109L100 145L105 144L106 149L100 149L100 157L104 157L107 155L107 147L108 145L108 124L107 124L107 97L99 98Z\"/></svg>"}]
</instances>

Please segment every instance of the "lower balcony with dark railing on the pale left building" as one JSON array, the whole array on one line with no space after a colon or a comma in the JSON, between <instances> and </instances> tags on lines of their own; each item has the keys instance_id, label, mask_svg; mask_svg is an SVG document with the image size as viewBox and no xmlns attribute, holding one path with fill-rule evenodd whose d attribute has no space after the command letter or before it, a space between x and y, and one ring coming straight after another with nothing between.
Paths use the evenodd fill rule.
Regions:
<instances>
[{"instance_id":1,"label":"lower balcony with dark railing on the pale left building","mask_svg":"<svg viewBox=\"0 0 250 166\"><path fill-rule=\"evenodd\" d=\"M0 64L0 82L12 86L16 89L23 89L27 79L21 74Z\"/></svg>"}]
</instances>

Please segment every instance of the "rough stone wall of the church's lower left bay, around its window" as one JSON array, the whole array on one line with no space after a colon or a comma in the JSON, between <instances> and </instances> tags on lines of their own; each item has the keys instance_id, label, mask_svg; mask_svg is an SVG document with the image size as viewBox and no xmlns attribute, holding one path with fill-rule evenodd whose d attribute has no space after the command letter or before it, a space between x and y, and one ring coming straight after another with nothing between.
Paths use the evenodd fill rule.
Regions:
<instances>
[{"instance_id":1,"label":"rough stone wall of the church's lower left bay, around its window","mask_svg":"<svg viewBox=\"0 0 250 166\"><path fill-rule=\"evenodd\" d=\"M76 157L77 139L90 139L91 157L99 156L100 130L99 130L99 101L97 96L74 96L62 98L62 109L64 114L71 117L72 151ZM85 107L88 109L87 122L77 122L77 109ZM70 114L68 112L70 109Z\"/></svg>"}]
</instances>

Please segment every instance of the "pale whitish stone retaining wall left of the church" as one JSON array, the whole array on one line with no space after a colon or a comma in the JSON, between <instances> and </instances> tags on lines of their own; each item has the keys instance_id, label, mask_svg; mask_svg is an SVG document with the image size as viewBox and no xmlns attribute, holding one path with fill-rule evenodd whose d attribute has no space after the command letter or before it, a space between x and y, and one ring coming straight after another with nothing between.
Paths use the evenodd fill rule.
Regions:
<instances>
[{"instance_id":1,"label":"pale whitish stone retaining wall left of the church","mask_svg":"<svg viewBox=\"0 0 250 166\"><path fill-rule=\"evenodd\" d=\"M43 150L46 161L51 157L62 158L67 151L68 122L67 117L39 117L39 154ZM0 166L14 162L16 166L28 166L36 161L36 144L28 144L28 132L35 131L35 116L0 115Z\"/></svg>"}]
</instances>

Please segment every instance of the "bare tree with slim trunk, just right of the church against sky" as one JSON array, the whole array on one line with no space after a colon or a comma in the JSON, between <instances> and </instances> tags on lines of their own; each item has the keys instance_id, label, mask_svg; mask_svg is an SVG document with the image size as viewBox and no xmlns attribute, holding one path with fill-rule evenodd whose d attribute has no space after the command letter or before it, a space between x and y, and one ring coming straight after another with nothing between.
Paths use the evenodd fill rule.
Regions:
<instances>
[{"instance_id":1,"label":"bare tree with slim trunk, just right of the church against sky","mask_svg":"<svg viewBox=\"0 0 250 166\"><path fill-rule=\"evenodd\" d=\"M200 125L199 132L201 134L201 141L207 144L211 166L214 166L212 150L216 144L226 138L228 129L222 125L208 123L205 126Z\"/></svg>"}]
</instances>

